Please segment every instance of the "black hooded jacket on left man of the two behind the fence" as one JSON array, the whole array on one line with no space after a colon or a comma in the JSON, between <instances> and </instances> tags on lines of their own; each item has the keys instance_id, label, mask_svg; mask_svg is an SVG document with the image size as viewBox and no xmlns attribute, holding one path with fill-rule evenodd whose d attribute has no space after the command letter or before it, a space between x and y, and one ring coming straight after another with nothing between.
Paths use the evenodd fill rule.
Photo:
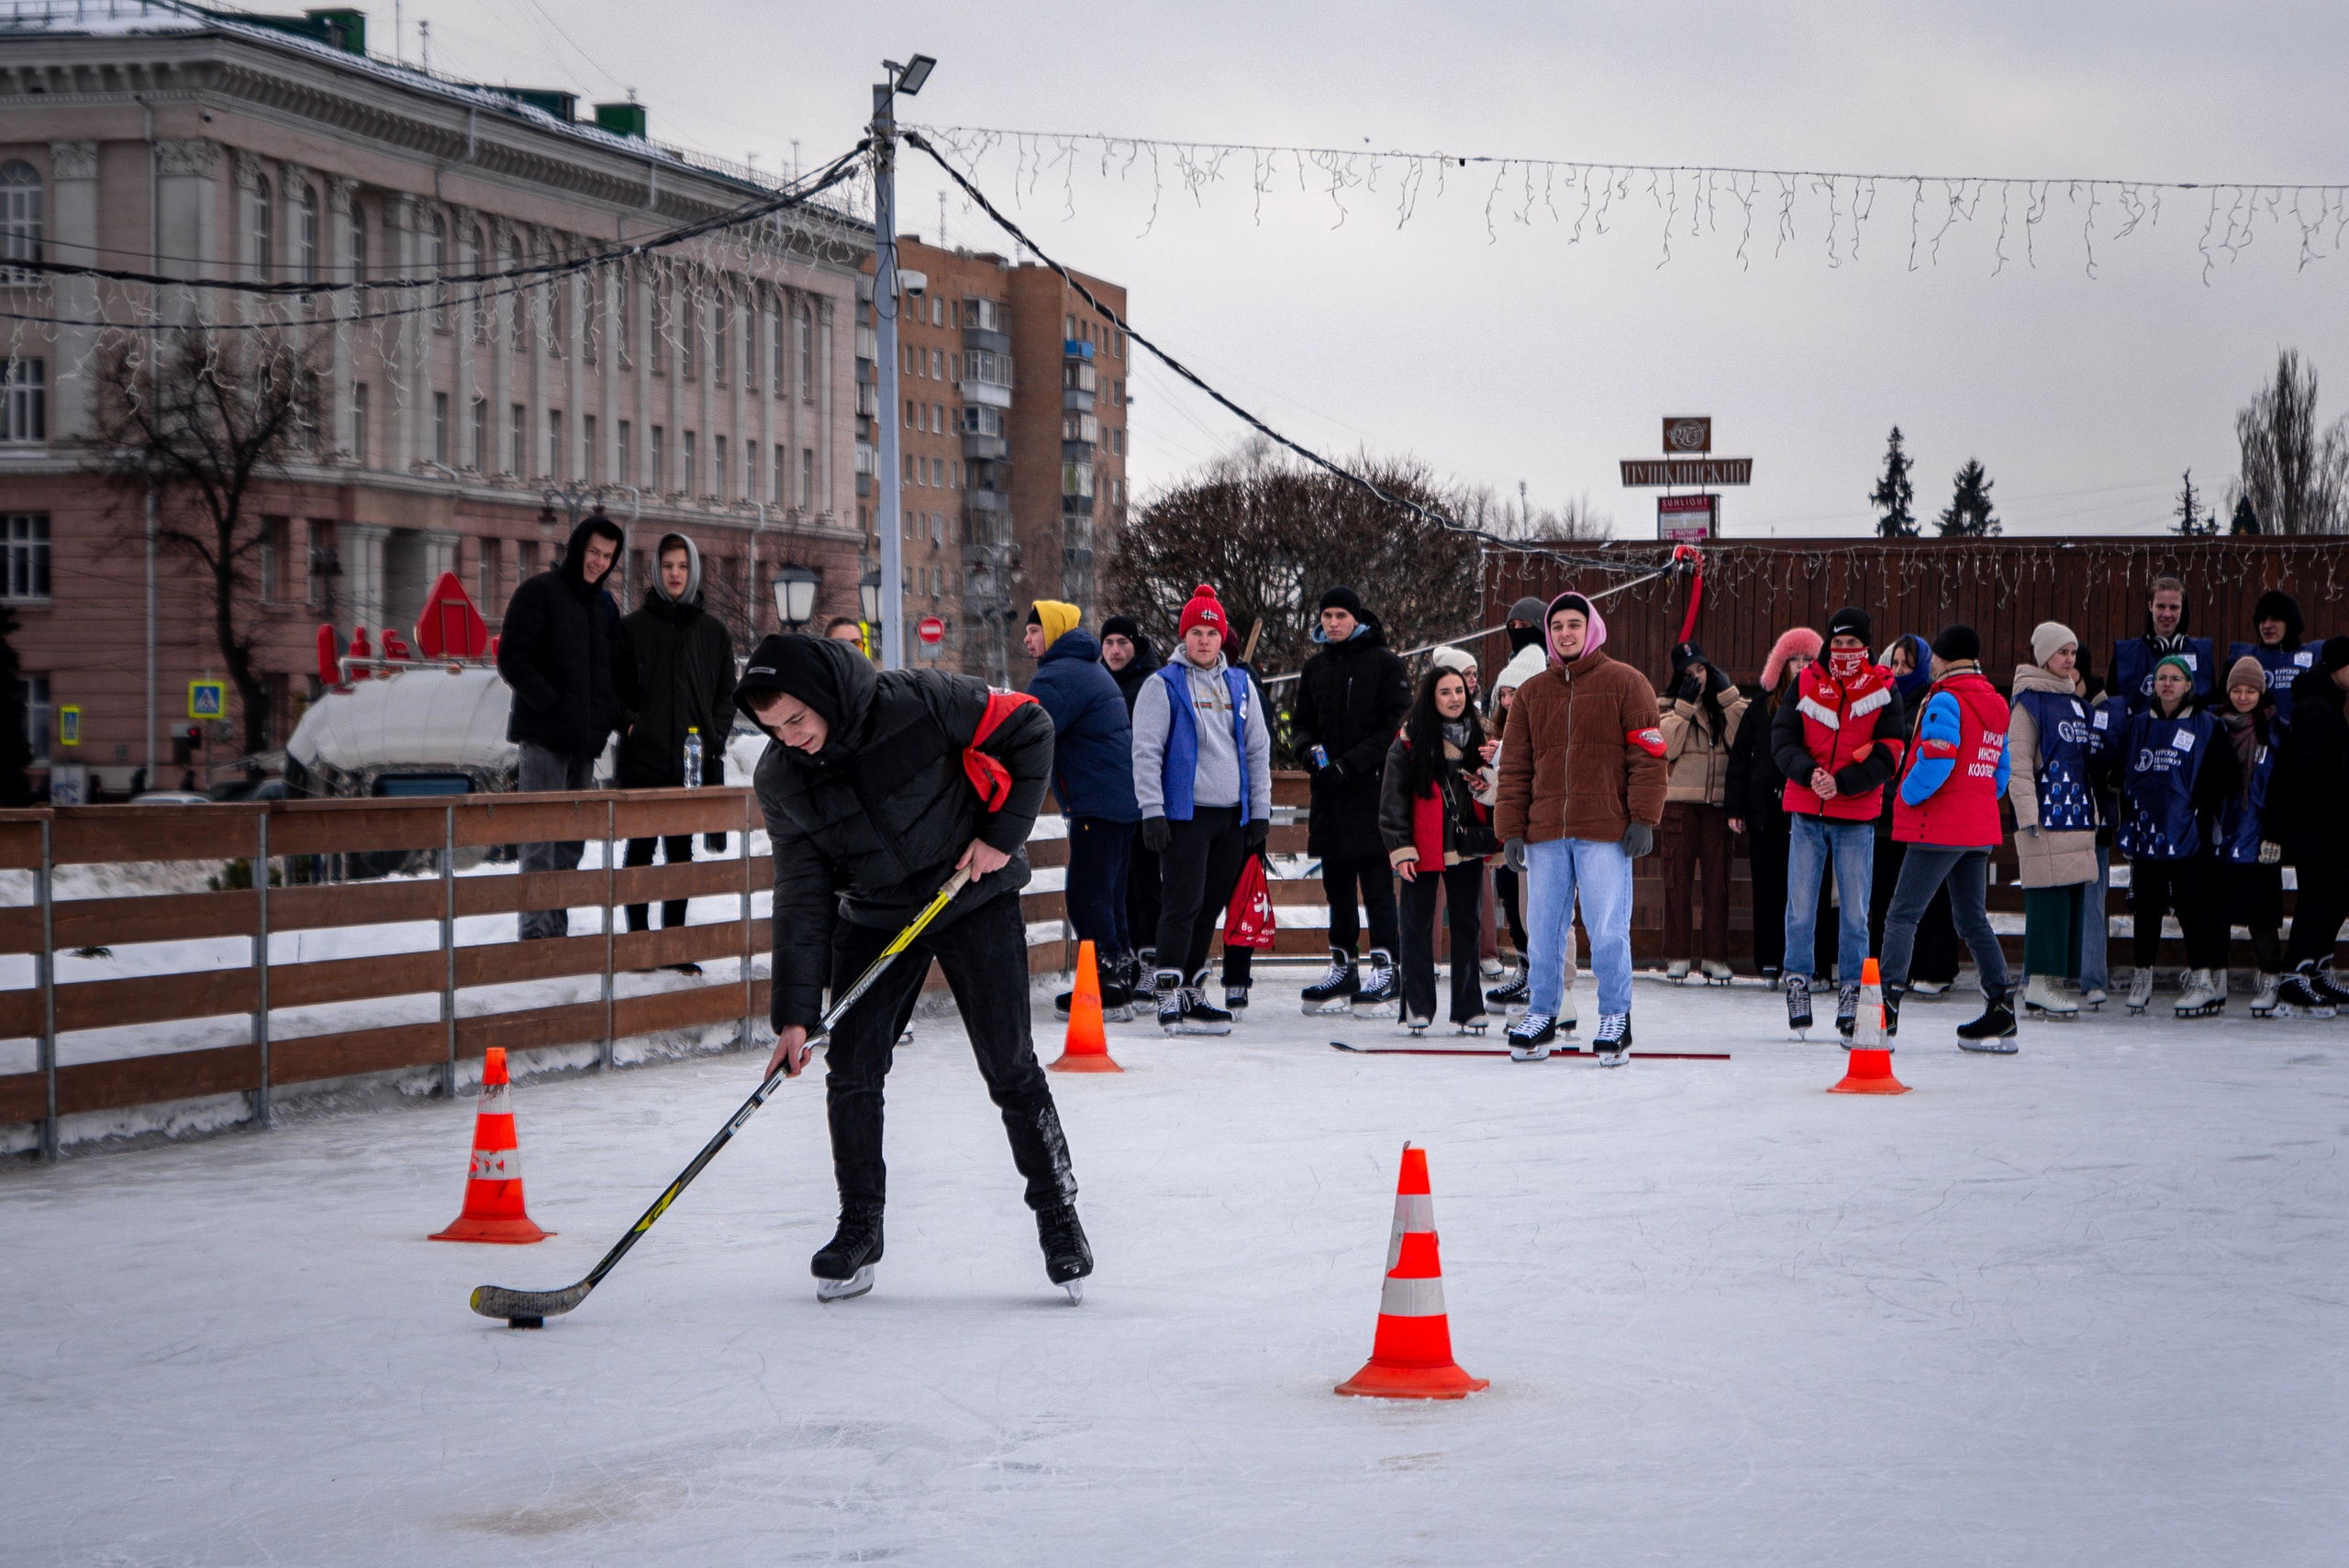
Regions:
<instances>
[{"instance_id":1,"label":"black hooded jacket on left man of the two behind the fence","mask_svg":"<svg viewBox=\"0 0 2349 1568\"><path fill-rule=\"evenodd\" d=\"M571 530L559 566L543 570L505 603L498 629L498 674L514 692L505 739L531 742L561 756L601 756L611 732L627 723L627 692L637 688L620 636L620 606L604 592L608 570L587 582L587 535L625 545L608 516L587 516Z\"/></svg>"}]
</instances>

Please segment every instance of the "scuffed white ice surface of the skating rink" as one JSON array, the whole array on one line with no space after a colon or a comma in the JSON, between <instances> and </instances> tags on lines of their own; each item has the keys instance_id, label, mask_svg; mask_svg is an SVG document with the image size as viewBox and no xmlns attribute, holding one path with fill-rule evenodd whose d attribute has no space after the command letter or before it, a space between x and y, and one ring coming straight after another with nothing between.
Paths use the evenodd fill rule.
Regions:
<instances>
[{"instance_id":1,"label":"scuffed white ice surface of the skating rink","mask_svg":"<svg viewBox=\"0 0 2349 1568\"><path fill-rule=\"evenodd\" d=\"M1045 1286L951 1019L890 1084L879 1289L820 1307L789 1084L571 1317L749 1091L705 1056L517 1089L529 1249L425 1242L467 1103L0 1176L12 1563L2337 1563L2349 1019L2088 1019L1823 1089L1757 988L1642 981L1729 1063L1344 1056L1111 1026L1057 1077L1099 1272ZM1581 988L1586 1028L1595 1012ZM1050 1012L1038 1035L1052 1040ZM1048 1052L1050 1054L1050 1052ZM1466 1404L1365 1359L1428 1148Z\"/></svg>"}]
</instances>

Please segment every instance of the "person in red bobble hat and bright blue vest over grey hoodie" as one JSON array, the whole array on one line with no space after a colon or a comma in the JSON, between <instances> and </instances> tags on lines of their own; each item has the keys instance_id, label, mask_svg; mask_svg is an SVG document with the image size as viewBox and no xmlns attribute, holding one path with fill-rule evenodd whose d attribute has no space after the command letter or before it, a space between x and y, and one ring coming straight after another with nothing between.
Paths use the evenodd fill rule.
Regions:
<instances>
[{"instance_id":1,"label":"person in red bobble hat and bright blue vest over grey hoodie","mask_svg":"<svg viewBox=\"0 0 2349 1568\"><path fill-rule=\"evenodd\" d=\"M1254 683L1224 662L1224 606L1205 582L1182 608L1174 657L1135 699L1135 800L1158 857L1158 1028L1229 1035L1207 1000L1214 918L1273 819L1273 742Z\"/></svg>"}]
</instances>

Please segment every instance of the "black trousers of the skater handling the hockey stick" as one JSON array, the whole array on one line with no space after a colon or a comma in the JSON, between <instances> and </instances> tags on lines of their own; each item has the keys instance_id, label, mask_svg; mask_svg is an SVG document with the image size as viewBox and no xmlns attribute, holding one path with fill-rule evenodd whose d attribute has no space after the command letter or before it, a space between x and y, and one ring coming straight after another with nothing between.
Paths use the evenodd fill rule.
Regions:
<instances>
[{"instance_id":1,"label":"black trousers of the skater handling the hockey stick","mask_svg":"<svg viewBox=\"0 0 2349 1568\"><path fill-rule=\"evenodd\" d=\"M832 932L832 991L848 991L895 934L839 922ZM1036 1063L1029 1040L1027 920L1017 894L996 894L900 953L832 1030L824 1052L824 1110L832 1120L832 1176L841 1185L841 1207L879 1204L888 1195L881 1084L933 958L947 972L954 1005L963 1014L987 1099L1003 1113L1012 1164L1027 1178L1029 1209L1073 1199L1069 1141L1059 1131L1052 1082Z\"/></svg>"}]
</instances>

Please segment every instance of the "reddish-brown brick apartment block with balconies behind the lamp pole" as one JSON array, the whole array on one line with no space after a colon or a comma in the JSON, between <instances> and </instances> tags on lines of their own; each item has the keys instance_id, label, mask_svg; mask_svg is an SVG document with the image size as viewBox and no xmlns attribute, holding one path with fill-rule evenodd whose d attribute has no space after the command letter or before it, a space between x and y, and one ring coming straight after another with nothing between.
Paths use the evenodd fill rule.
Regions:
<instances>
[{"instance_id":1,"label":"reddish-brown brick apartment block with balconies behind the lamp pole","mask_svg":"<svg viewBox=\"0 0 2349 1568\"><path fill-rule=\"evenodd\" d=\"M1088 629L1113 613L1097 561L1125 519L1125 333L1043 265L902 235L897 268L926 279L895 300L907 617L947 622L944 664L1024 685L1029 603L1078 603ZM1078 277L1125 319L1125 289ZM860 322L883 305L867 298ZM869 331L857 338L869 359ZM874 444L879 394L864 364L857 378L857 437ZM860 486L867 530L876 491ZM879 535L867 554L879 561Z\"/></svg>"}]
</instances>

